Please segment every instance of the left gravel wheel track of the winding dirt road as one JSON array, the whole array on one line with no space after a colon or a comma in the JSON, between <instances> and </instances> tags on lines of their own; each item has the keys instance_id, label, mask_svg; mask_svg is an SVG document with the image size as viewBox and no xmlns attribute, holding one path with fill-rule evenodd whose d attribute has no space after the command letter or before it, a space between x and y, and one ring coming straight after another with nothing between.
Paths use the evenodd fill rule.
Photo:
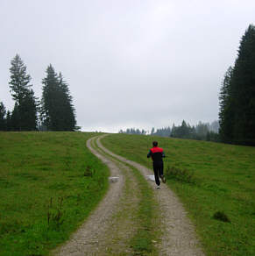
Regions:
<instances>
[{"instance_id":1,"label":"left gravel wheel track of the winding dirt road","mask_svg":"<svg viewBox=\"0 0 255 256\"><path fill-rule=\"evenodd\" d=\"M87 141L87 146L91 153L103 161L110 168L111 176L118 176L119 181L110 183L110 188L104 196L103 201L99 203L84 224L71 236L66 244L57 248L54 255L60 256L81 256L81 255L104 255L101 254L100 246L103 245L105 231L108 229L112 216L117 211L117 204L123 193L124 175L121 170L112 161L98 153L91 142L95 138Z\"/></svg>"}]
</instances>

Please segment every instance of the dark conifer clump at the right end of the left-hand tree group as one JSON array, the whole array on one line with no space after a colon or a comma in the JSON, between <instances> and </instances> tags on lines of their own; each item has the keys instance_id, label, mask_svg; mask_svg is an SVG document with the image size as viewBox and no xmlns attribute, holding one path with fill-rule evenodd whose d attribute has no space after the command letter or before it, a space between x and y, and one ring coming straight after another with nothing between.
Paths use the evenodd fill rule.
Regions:
<instances>
[{"instance_id":1,"label":"dark conifer clump at the right end of the left-hand tree group","mask_svg":"<svg viewBox=\"0 0 255 256\"><path fill-rule=\"evenodd\" d=\"M62 75L57 75L50 65L42 83L42 124L48 131L74 131L74 105L67 82L64 82Z\"/></svg>"}]
</instances>

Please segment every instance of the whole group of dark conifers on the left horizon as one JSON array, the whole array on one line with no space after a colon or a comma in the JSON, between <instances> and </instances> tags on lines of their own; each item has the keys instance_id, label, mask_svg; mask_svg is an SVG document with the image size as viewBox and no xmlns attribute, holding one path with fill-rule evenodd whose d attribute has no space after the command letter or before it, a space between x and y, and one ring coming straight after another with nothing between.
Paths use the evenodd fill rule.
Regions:
<instances>
[{"instance_id":1,"label":"whole group of dark conifers on the left horizon","mask_svg":"<svg viewBox=\"0 0 255 256\"><path fill-rule=\"evenodd\" d=\"M42 80L41 100L34 95L32 77L17 54L11 60L10 92L13 110L6 110L0 102L0 131L75 131L73 98L63 76L50 64Z\"/></svg>"}]
</instances>

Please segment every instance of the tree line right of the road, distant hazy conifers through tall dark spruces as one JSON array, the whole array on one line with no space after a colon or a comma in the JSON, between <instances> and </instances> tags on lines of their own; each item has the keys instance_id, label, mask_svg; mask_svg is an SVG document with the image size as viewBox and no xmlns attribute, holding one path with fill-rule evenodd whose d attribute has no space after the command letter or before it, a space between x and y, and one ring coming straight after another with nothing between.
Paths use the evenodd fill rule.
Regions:
<instances>
[{"instance_id":1,"label":"tree line right of the road, distant hazy conifers through tall dark spruces","mask_svg":"<svg viewBox=\"0 0 255 256\"><path fill-rule=\"evenodd\" d=\"M237 59L226 71L219 95L219 121L213 124L165 127L147 135L182 139L203 139L223 143L255 146L255 26L249 25L240 41ZM124 131L121 131L124 132ZM141 134L130 129L132 134Z\"/></svg>"}]
</instances>

